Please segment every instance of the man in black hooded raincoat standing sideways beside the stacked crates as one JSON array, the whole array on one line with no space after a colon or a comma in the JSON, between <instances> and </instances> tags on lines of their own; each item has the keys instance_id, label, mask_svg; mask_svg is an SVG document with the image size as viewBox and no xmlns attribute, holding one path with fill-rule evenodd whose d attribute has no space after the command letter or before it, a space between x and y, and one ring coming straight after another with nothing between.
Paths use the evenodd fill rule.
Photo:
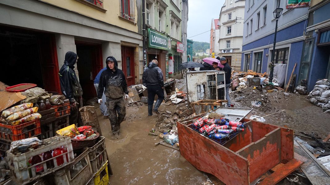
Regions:
<instances>
[{"instance_id":1,"label":"man in black hooded raincoat standing sideways beside the stacked crates","mask_svg":"<svg viewBox=\"0 0 330 185\"><path fill-rule=\"evenodd\" d=\"M76 53L72 51L67 52L65 54L64 64L62 65L58 73L60 75L62 94L70 101L70 125L77 125L79 113L78 102L80 102L80 97L82 96L82 87L79 83L75 70L73 70L75 68L74 65L77 61L78 56ZM80 102L80 106L82 106L82 102Z\"/></svg>"}]
</instances>

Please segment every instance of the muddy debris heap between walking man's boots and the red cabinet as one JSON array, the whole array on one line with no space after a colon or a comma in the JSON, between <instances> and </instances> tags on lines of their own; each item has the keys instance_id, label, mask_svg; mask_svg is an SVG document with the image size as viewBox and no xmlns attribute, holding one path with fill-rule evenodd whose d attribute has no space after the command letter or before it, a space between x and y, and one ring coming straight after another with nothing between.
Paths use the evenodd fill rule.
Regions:
<instances>
[{"instance_id":1,"label":"muddy debris heap between walking man's boots and the red cabinet","mask_svg":"<svg viewBox=\"0 0 330 185\"><path fill-rule=\"evenodd\" d=\"M180 119L184 119L193 114L192 107L190 102L186 101L185 103L181 103L177 105L175 110L172 112L165 110L158 116L156 129L160 132L167 132L171 130L174 126L177 126L177 121Z\"/></svg>"}]
</instances>

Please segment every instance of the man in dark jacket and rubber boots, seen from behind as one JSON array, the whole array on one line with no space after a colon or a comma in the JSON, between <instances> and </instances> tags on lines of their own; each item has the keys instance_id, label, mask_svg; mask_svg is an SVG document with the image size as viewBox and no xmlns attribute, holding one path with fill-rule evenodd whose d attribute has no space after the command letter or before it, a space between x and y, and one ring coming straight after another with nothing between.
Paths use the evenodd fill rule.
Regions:
<instances>
[{"instance_id":1,"label":"man in dark jacket and rubber boots, seen from behind","mask_svg":"<svg viewBox=\"0 0 330 185\"><path fill-rule=\"evenodd\" d=\"M148 116L152 116L152 112L159 114L158 108L164 100L164 79L162 70L158 67L158 61L152 60L148 68L142 75L142 83L148 88ZM157 94L158 99L152 110L153 101Z\"/></svg>"}]
</instances>

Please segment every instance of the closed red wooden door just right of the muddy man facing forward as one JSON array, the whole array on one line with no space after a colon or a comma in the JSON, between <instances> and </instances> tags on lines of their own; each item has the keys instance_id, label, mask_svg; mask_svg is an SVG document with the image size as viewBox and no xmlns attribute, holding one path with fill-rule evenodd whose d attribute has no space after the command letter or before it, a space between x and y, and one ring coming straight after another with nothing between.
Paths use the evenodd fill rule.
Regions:
<instances>
[{"instance_id":1,"label":"closed red wooden door just right of the muddy man facing forward","mask_svg":"<svg viewBox=\"0 0 330 185\"><path fill-rule=\"evenodd\" d=\"M121 46L121 65L126 77L127 86L134 85L134 48Z\"/></svg>"}]
</instances>

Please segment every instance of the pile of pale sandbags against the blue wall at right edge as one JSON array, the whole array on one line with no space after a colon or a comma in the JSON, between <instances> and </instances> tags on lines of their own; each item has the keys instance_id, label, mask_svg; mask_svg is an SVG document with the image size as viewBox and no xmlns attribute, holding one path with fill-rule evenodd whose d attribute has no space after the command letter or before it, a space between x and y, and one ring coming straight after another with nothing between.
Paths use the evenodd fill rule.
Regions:
<instances>
[{"instance_id":1,"label":"pile of pale sandbags against the blue wall at right edge","mask_svg":"<svg viewBox=\"0 0 330 185\"><path fill-rule=\"evenodd\" d=\"M327 79L316 81L316 85L309 93L308 98L311 103L330 113L330 81Z\"/></svg>"}]
</instances>

